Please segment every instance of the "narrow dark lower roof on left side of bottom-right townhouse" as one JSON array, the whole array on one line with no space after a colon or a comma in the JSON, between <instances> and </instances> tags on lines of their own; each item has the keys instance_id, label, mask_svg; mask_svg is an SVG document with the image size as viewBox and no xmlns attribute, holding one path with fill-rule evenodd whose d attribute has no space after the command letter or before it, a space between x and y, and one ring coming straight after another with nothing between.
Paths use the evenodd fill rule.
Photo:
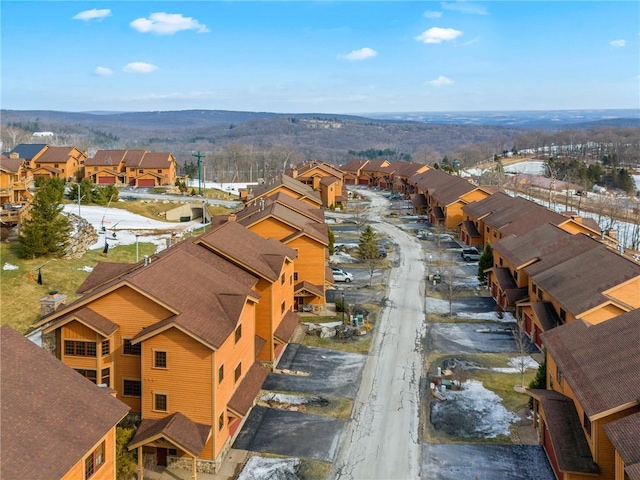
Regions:
<instances>
[{"instance_id":1,"label":"narrow dark lower roof on left side of bottom-right townhouse","mask_svg":"<svg viewBox=\"0 0 640 480\"><path fill-rule=\"evenodd\" d=\"M542 404L558 468L563 472L598 473L573 400L553 390L527 390Z\"/></svg>"}]
</instances>

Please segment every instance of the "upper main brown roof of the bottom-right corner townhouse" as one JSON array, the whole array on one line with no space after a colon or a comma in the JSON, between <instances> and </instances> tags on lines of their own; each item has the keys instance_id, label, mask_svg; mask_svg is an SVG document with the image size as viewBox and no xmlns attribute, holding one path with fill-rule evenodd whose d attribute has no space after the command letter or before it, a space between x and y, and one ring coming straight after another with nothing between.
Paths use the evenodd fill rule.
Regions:
<instances>
[{"instance_id":1,"label":"upper main brown roof of the bottom-right corner townhouse","mask_svg":"<svg viewBox=\"0 0 640 480\"><path fill-rule=\"evenodd\" d=\"M640 309L597 325L576 320L542 341L592 420L640 404Z\"/></svg>"}]
</instances>

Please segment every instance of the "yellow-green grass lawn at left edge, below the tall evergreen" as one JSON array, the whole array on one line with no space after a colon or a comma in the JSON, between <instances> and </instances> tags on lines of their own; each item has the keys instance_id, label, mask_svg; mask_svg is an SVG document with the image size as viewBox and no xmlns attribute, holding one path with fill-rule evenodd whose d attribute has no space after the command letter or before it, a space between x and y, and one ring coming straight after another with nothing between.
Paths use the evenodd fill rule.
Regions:
<instances>
[{"instance_id":1,"label":"yellow-green grass lawn at left edge, below the tall evergreen","mask_svg":"<svg viewBox=\"0 0 640 480\"><path fill-rule=\"evenodd\" d=\"M25 333L33 322L40 318L40 303L49 291L57 290L67 295L67 303L78 298L76 290L89 275L85 267L93 268L98 262L134 263L136 261L135 245L120 245L109 249L104 255L102 249L89 250L80 259L64 260L42 257L35 260L21 259L15 254L16 242L0 244L0 258L2 265L11 264L17 270L0 270L0 324L10 325L17 331ZM153 243L138 243L139 255L152 255L156 246ZM29 272L33 272L37 279L37 268L42 267L42 285L30 279ZM87 269L88 270L88 269Z\"/></svg>"}]
</instances>

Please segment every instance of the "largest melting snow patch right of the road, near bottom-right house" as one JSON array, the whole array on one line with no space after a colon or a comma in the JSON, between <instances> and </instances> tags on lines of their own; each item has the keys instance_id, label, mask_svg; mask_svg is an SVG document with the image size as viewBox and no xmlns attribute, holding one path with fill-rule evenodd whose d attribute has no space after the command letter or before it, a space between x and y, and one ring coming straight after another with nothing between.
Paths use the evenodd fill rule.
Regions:
<instances>
[{"instance_id":1,"label":"largest melting snow patch right of the road, near bottom-right house","mask_svg":"<svg viewBox=\"0 0 640 480\"><path fill-rule=\"evenodd\" d=\"M434 427L460 437L509 435L511 423L519 418L502 405L502 399L478 380L467 380L461 387L461 390L447 390L445 402L432 403Z\"/></svg>"}]
</instances>

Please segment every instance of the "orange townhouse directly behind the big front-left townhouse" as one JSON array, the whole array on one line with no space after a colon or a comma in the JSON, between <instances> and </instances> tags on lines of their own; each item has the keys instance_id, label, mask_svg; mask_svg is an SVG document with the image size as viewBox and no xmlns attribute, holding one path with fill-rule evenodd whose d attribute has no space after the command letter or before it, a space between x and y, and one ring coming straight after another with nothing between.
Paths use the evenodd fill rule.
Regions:
<instances>
[{"instance_id":1,"label":"orange townhouse directly behind the big front-left townhouse","mask_svg":"<svg viewBox=\"0 0 640 480\"><path fill-rule=\"evenodd\" d=\"M329 234L324 213L301 200L278 192L257 205L240 210L235 220L263 238L274 238L298 252L294 272L294 310L324 306L326 287L333 283L328 267Z\"/></svg>"}]
</instances>

